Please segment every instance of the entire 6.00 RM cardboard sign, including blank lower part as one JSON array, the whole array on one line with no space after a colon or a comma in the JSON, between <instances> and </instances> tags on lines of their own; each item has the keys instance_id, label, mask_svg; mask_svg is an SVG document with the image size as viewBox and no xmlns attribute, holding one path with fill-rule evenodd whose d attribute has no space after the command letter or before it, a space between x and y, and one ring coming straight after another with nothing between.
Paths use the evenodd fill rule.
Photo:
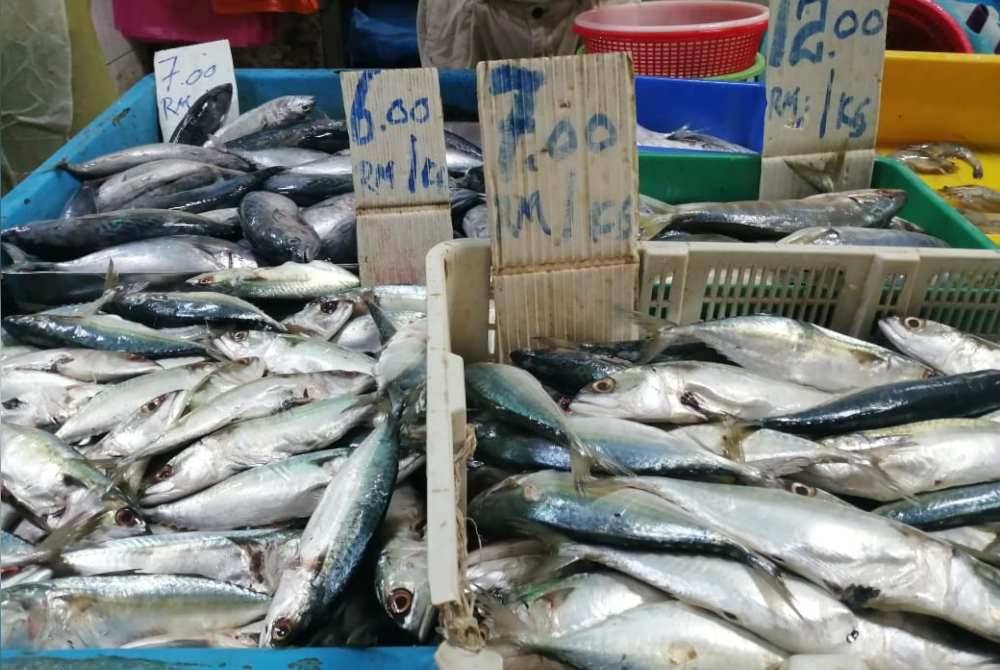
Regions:
<instances>
[{"instance_id":1,"label":"entire 6.00 RM cardboard sign, including blank lower part","mask_svg":"<svg viewBox=\"0 0 1000 670\"><path fill-rule=\"evenodd\" d=\"M423 284L427 252L452 238L437 70L360 70L340 82L361 283Z\"/></svg>"}]
</instances>

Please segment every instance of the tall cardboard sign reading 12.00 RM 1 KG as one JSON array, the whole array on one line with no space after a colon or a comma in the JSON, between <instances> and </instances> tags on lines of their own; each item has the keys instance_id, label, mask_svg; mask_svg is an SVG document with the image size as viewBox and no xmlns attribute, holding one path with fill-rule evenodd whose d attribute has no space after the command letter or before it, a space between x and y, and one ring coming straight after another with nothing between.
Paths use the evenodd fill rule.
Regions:
<instances>
[{"instance_id":1,"label":"tall cardboard sign reading 12.00 RM 1 KG","mask_svg":"<svg viewBox=\"0 0 1000 670\"><path fill-rule=\"evenodd\" d=\"M870 184L888 4L771 0L761 198L816 192L786 160L833 166L838 189Z\"/></svg>"}]
</instances>

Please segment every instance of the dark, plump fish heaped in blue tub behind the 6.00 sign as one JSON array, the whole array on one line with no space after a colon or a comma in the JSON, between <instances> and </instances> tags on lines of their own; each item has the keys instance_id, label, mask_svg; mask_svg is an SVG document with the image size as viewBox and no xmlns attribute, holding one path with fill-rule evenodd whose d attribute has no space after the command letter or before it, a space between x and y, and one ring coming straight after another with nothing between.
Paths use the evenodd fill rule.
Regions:
<instances>
[{"instance_id":1,"label":"dark, plump fish heaped in blue tub behind the 6.00 sign","mask_svg":"<svg viewBox=\"0 0 1000 670\"><path fill-rule=\"evenodd\" d=\"M2 232L8 269L103 274L113 261L119 273L158 275L356 263L346 122L293 95L222 125L231 96L228 84L205 93L169 142L61 163L82 184L58 218ZM445 139L461 228L484 199L482 153L455 133ZM472 168L478 176L465 178Z\"/></svg>"}]
</instances>

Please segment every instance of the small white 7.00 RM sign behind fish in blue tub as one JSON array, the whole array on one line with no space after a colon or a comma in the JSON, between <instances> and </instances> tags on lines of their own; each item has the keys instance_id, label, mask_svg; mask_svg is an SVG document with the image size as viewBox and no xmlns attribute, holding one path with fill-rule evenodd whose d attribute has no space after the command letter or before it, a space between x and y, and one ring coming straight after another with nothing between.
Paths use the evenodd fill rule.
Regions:
<instances>
[{"instance_id":1,"label":"small white 7.00 RM sign behind fish in blue tub","mask_svg":"<svg viewBox=\"0 0 1000 670\"><path fill-rule=\"evenodd\" d=\"M233 101L226 121L240 114L236 95L236 74L229 40L205 42L157 51L153 56L156 77L156 110L164 141L187 114L191 103L211 88L233 85Z\"/></svg>"}]
</instances>

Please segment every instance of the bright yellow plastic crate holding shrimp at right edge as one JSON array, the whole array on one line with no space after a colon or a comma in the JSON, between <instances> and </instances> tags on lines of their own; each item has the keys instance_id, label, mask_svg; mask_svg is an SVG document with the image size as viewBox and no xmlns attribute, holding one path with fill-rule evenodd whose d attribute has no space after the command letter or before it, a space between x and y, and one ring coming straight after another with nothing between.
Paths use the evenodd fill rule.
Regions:
<instances>
[{"instance_id":1,"label":"bright yellow plastic crate holding shrimp at right edge","mask_svg":"<svg viewBox=\"0 0 1000 670\"><path fill-rule=\"evenodd\" d=\"M951 141L983 162L975 180L964 163L951 175L921 175L934 189L982 184L1000 191L1000 56L887 51L878 149L888 154L914 142ZM992 235L1000 243L1000 235Z\"/></svg>"}]
</instances>

